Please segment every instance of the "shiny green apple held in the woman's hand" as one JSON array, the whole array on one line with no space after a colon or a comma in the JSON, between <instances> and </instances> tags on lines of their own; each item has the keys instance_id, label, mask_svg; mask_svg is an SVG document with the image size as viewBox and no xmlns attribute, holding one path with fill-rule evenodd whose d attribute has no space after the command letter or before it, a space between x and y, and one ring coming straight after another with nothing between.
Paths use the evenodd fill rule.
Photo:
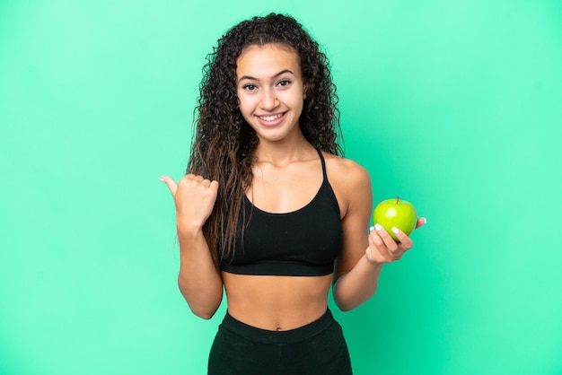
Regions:
<instances>
[{"instance_id":1,"label":"shiny green apple held in the woman's hand","mask_svg":"<svg viewBox=\"0 0 562 375\"><path fill-rule=\"evenodd\" d=\"M382 225L395 241L398 241L392 228L396 227L409 236L416 229L417 213L416 207L407 201L387 199L379 203L373 211L373 222Z\"/></svg>"}]
</instances>

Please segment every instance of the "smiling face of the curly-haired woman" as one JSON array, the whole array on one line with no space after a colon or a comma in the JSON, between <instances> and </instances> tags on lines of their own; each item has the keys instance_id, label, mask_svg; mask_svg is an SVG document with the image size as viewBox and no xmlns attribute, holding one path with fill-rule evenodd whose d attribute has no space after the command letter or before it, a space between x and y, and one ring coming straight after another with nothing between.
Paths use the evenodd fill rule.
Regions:
<instances>
[{"instance_id":1,"label":"smiling face of the curly-haired woman","mask_svg":"<svg viewBox=\"0 0 562 375\"><path fill-rule=\"evenodd\" d=\"M236 92L242 116L260 141L302 136L306 98L299 57L279 44L252 45L236 60Z\"/></svg>"}]
</instances>

